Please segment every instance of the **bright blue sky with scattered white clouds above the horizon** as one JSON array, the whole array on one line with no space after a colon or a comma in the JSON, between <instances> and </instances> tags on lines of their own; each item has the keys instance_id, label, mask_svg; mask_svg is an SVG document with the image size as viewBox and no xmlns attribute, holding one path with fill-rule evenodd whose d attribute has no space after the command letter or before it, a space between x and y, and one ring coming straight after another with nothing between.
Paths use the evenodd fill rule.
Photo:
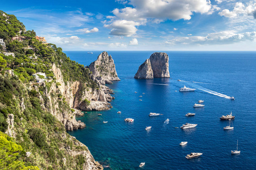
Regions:
<instances>
[{"instance_id":1,"label":"bright blue sky with scattered white clouds above the horizon","mask_svg":"<svg viewBox=\"0 0 256 170\"><path fill-rule=\"evenodd\" d=\"M5 1L64 50L255 50L256 0Z\"/></svg>"}]
</instances>

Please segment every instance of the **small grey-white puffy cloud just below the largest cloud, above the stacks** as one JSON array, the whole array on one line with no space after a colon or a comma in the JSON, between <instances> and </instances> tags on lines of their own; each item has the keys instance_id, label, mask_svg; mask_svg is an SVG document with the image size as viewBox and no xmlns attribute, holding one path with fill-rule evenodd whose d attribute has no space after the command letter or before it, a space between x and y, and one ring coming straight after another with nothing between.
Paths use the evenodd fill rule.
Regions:
<instances>
[{"instance_id":1,"label":"small grey-white puffy cloud just below the largest cloud, above the stacks","mask_svg":"<svg viewBox=\"0 0 256 170\"><path fill-rule=\"evenodd\" d=\"M111 24L104 24L104 27L111 29L110 35L130 37L136 33L137 28L135 26L138 25L140 24L134 21L115 20Z\"/></svg>"}]
</instances>

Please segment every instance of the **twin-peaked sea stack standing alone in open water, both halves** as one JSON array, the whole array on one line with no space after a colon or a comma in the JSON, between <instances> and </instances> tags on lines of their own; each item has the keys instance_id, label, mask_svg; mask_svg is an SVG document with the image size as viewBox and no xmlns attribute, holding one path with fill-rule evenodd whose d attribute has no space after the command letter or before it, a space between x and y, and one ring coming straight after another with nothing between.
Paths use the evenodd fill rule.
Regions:
<instances>
[{"instance_id":1,"label":"twin-peaked sea stack standing alone in open water, both halves","mask_svg":"<svg viewBox=\"0 0 256 170\"><path fill-rule=\"evenodd\" d=\"M169 78L169 57L166 53L153 53L135 74L135 79Z\"/></svg>"}]
</instances>

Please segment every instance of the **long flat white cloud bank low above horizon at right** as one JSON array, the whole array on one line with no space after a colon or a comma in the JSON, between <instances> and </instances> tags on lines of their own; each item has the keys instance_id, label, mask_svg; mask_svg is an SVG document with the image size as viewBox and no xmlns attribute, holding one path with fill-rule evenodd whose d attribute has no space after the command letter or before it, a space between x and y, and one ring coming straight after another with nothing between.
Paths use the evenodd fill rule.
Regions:
<instances>
[{"instance_id":1,"label":"long flat white cloud bank low above horizon at right","mask_svg":"<svg viewBox=\"0 0 256 170\"><path fill-rule=\"evenodd\" d=\"M233 44L240 41L256 40L256 32L234 33L230 31L209 33L207 36L178 37L166 44Z\"/></svg>"}]
</instances>

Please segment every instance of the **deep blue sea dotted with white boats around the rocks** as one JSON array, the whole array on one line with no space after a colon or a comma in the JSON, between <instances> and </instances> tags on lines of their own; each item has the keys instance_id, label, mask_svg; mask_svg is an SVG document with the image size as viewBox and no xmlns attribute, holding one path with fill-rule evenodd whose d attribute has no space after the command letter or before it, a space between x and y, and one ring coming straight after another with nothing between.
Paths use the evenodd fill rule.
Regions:
<instances>
[{"instance_id":1,"label":"deep blue sea dotted with white boats around the rocks","mask_svg":"<svg viewBox=\"0 0 256 170\"><path fill-rule=\"evenodd\" d=\"M65 53L89 65L101 52ZM113 108L77 117L86 128L68 132L88 146L94 159L109 166L104 169L256 169L256 52L168 51L171 78L152 80L134 79L134 75L154 52L108 53L121 79L108 85L115 93ZM196 91L179 92L183 86ZM204 108L193 108L198 100L204 100ZM236 116L234 130L224 130L229 121L220 117L231 111ZM150 112L162 115L149 117ZM185 117L188 112L196 115ZM186 122L198 125L180 129ZM151 130L146 131L146 126ZM237 140L241 154L232 155ZM180 146L181 141L188 144ZM186 159L191 152L203 155ZM139 168L141 162L146 164Z\"/></svg>"}]
</instances>

